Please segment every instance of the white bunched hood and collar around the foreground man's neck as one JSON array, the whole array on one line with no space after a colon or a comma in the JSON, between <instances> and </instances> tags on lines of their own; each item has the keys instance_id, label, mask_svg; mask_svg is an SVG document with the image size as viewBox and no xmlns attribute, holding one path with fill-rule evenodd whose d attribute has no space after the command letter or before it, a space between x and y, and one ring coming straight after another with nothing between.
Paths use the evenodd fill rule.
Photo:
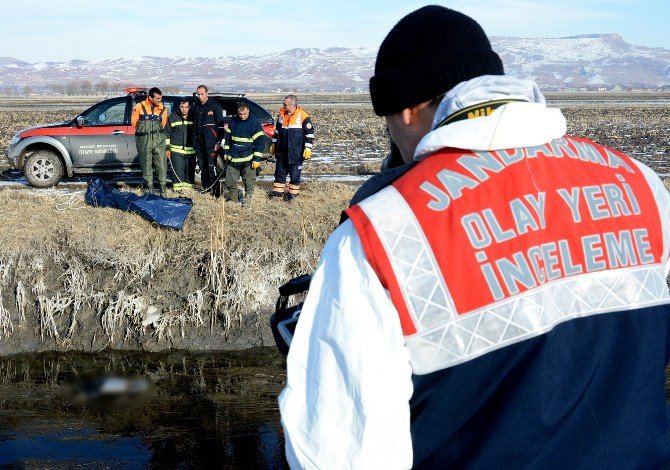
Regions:
<instances>
[{"instance_id":1,"label":"white bunched hood and collar around the foreground man's neck","mask_svg":"<svg viewBox=\"0 0 670 470\"><path fill-rule=\"evenodd\" d=\"M487 101L521 100L500 106L488 116L437 126L447 116ZM560 109L547 108L540 89L530 80L505 75L484 75L452 88L437 108L433 130L419 142L414 160L445 148L499 150L532 147L562 137L565 117Z\"/></svg>"}]
</instances>

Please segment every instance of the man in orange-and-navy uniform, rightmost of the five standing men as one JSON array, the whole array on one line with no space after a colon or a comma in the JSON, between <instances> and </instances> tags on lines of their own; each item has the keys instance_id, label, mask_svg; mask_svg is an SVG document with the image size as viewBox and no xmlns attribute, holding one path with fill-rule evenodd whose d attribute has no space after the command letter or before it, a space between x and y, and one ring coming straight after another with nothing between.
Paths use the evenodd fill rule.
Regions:
<instances>
[{"instance_id":1,"label":"man in orange-and-navy uniform, rightmost of the five standing men","mask_svg":"<svg viewBox=\"0 0 670 470\"><path fill-rule=\"evenodd\" d=\"M275 133L270 145L270 154L276 157L275 181L272 196L284 197L286 175L289 176L288 194L290 201L300 192L302 162L312 157L314 126L307 111L298 106L298 98L288 95L279 110Z\"/></svg>"}]
</instances>

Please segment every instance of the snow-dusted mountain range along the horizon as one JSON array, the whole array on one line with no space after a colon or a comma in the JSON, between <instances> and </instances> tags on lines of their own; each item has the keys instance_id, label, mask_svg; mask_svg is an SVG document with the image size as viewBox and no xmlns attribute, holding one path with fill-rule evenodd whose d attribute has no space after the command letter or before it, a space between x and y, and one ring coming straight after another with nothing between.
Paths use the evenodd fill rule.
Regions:
<instances>
[{"instance_id":1,"label":"snow-dusted mountain range along the horizon","mask_svg":"<svg viewBox=\"0 0 670 470\"><path fill-rule=\"evenodd\" d=\"M634 46L616 34L491 38L506 72L544 90L670 87L670 50ZM260 56L127 57L30 64L0 57L0 91L95 92L122 85L219 91L367 91L376 48L291 49ZM75 90L79 87L79 90Z\"/></svg>"}]
</instances>

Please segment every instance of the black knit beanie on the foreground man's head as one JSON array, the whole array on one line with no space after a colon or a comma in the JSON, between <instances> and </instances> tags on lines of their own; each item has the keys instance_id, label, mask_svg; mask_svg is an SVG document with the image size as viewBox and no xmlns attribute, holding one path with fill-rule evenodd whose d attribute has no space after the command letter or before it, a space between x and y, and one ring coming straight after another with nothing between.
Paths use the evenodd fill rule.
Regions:
<instances>
[{"instance_id":1,"label":"black knit beanie on the foreground man's head","mask_svg":"<svg viewBox=\"0 0 670 470\"><path fill-rule=\"evenodd\" d=\"M429 5L398 21L377 53L370 97L378 116L428 101L462 81L504 75L502 61L479 24Z\"/></svg>"}]
</instances>

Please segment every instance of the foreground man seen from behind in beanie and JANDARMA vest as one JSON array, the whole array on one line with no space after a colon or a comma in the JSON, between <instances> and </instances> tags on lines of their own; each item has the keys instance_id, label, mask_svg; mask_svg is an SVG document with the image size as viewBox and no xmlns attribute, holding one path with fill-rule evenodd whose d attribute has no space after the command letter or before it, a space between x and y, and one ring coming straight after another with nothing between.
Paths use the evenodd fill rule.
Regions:
<instances>
[{"instance_id":1,"label":"foreground man seen from behind in beanie and JANDARMA vest","mask_svg":"<svg viewBox=\"0 0 670 470\"><path fill-rule=\"evenodd\" d=\"M670 196L565 135L481 27L439 6L370 79L406 165L331 235L280 396L309 468L659 468L670 461Z\"/></svg>"}]
</instances>

